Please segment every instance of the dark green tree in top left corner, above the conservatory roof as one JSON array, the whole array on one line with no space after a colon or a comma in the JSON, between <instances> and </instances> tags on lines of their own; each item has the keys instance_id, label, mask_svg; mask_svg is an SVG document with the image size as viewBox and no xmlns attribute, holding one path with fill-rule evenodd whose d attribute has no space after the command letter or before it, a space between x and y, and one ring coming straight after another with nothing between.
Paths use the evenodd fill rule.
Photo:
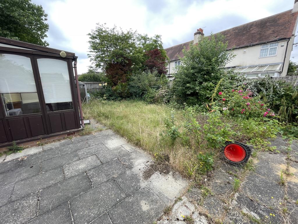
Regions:
<instances>
[{"instance_id":1,"label":"dark green tree in top left corner, above the conservatory roof","mask_svg":"<svg viewBox=\"0 0 298 224\"><path fill-rule=\"evenodd\" d=\"M0 36L49 46L44 38L49 30L48 15L30 0L1 0Z\"/></svg>"}]
</instances>

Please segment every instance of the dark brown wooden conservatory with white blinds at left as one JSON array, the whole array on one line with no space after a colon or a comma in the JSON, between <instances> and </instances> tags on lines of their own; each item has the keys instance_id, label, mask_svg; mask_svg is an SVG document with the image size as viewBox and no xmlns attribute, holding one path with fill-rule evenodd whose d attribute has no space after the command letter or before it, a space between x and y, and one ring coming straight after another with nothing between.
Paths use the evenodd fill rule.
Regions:
<instances>
[{"instance_id":1,"label":"dark brown wooden conservatory with white blinds at left","mask_svg":"<svg viewBox=\"0 0 298 224\"><path fill-rule=\"evenodd\" d=\"M75 53L0 37L0 147L81 129L76 63Z\"/></svg>"}]
</instances>

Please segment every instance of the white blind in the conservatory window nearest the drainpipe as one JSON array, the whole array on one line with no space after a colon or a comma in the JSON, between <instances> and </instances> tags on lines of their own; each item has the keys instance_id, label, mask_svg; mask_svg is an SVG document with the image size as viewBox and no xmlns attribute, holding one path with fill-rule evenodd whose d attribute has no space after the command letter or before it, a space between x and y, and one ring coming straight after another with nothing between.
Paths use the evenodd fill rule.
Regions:
<instances>
[{"instance_id":1,"label":"white blind in the conservatory window nearest the drainpipe","mask_svg":"<svg viewBox=\"0 0 298 224\"><path fill-rule=\"evenodd\" d=\"M41 58L37 63L45 102L72 102L67 62Z\"/></svg>"}]
</instances>

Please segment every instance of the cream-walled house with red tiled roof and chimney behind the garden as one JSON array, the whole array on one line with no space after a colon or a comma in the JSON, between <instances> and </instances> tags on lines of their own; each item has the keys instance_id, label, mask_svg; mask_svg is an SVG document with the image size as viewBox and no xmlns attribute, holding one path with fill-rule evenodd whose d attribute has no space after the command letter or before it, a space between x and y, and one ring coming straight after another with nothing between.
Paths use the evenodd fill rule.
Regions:
<instances>
[{"instance_id":1,"label":"cream-walled house with red tiled roof and chimney behind the garden","mask_svg":"<svg viewBox=\"0 0 298 224\"><path fill-rule=\"evenodd\" d=\"M251 78L266 74L285 76L293 49L297 15L298 0L295 0L291 10L219 32L228 42L227 50L236 55L226 69ZM194 33L193 40L165 49L169 58L170 80L174 79L176 68L180 65L182 50L189 49L189 45L197 43L201 36L204 33L200 28Z\"/></svg>"}]
</instances>

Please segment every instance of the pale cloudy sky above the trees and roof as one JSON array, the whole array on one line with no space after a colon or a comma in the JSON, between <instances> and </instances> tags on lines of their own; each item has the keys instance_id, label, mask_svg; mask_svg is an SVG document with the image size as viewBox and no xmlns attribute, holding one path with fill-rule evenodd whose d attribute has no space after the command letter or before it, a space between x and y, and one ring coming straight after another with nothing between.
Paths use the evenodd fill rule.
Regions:
<instances>
[{"instance_id":1,"label":"pale cloudy sky above the trees and roof","mask_svg":"<svg viewBox=\"0 0 298 224\"><path fill-rule=\"evenodd\" d=\"M294 0L32 0L48 14L49 47L75 52L78 73L90 61L88 36L96 23L114 24L149 36L162 35L164 48L190 41L198 28L205 35L293 8ZM298 42L298 40L295 40ZM292 58L294 57L294 58ZM298 62L298 47L291 60Z\"/></svg>"}]
</instances>

